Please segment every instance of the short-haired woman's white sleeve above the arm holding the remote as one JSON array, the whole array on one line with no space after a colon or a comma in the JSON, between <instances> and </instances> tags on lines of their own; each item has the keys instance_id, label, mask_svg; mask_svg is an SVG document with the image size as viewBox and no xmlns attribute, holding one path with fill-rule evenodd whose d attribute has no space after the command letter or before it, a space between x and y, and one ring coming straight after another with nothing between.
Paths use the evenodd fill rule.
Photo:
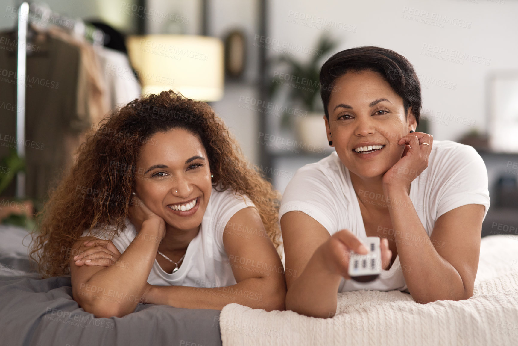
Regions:
<instances>
[{"instance_id":1,"label":"short-haired woman's white sleeve above the arm holding the remote","mask_svg":"<svg viewBox=\"0 0 518 346\"><path fill-rule=\"evenodd\" d=\"M313 165L302 167L284 190L279 220L287 212L303 212L333 234L338 230L337 192L342 191L323 172Z\"/></svg>"}]
</instances>

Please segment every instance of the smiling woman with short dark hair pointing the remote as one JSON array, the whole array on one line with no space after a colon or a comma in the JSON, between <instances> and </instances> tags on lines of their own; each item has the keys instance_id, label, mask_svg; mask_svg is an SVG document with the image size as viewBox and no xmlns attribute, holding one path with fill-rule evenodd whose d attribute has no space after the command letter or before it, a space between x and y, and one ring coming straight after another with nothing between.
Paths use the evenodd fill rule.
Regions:
<instances>
[{"instance_id":1,"label":"smiling woman with short dark hair pointing the remote","mask_svg":"<svg viewBox=\"0 0 518 346\"><path fill-rule=\"evenodd\" d=\"M410 62L379 47L343 50L320 73L336 152L300 168L281 202L286 309L336 312L337 292L398 289L415 301L473 295L487 172L470 146L414 132L421 87ZM351 280L349 252L381 240L382 272Z\"/></svg>"}]
</instances>

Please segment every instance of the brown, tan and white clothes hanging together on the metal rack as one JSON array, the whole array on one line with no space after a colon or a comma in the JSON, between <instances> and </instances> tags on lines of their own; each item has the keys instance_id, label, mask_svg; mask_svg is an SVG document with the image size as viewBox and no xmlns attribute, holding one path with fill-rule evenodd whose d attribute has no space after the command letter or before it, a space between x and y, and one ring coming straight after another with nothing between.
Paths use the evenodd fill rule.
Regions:
<instances>
[{"instance_id":1,"label":"brown, tan and white clothes hanging together on the metal rack","mask_svg":"<svg viewBox=\"0 0 518 346\"><path fill-rule=\"evenodd\" d=\"M139 98L141 89L123 53L92 46L57 26L29 30L35 35L27 44L26 75L20 77L17 34L0 33L0 158L17 146L17 82L22 82L25 193L43 201L71 167L84 133L112 109ZM15 182L2 195L14 196Z\"/></svg>"}]
</instances>

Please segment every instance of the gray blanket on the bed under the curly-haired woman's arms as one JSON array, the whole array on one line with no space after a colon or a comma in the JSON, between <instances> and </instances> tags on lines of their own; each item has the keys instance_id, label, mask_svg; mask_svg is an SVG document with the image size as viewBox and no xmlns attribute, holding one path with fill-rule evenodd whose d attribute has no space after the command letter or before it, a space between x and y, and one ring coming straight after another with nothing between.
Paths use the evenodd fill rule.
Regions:
<instances>
[{"instance_id":1,"label":"gray blanket on the bed under the curly-haired woman's arms","mask_svg":"<svg viewBox=\"0 0 518 346\"><path fill-rule=\"evenodd\" d=\"M96 319L71 297L70 278L0 276L0 345L221 345L219 310L139 303Z\"/></svg>"}]
</instances>

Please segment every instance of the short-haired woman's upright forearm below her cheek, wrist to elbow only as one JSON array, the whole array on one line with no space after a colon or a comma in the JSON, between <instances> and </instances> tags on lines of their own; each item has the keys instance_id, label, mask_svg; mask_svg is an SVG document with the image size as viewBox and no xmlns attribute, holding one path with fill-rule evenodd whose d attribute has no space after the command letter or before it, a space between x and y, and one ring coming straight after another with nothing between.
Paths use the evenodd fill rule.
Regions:
<instances>
[{"instance_id":1,"label":"short-haired woman's upright forearm below her cheek, wrist to elbow only","mask_svg":"<svg viewBox=\"0 0 518 346\"><path fill-rule=\"evenodd\" d=\"M468 298L461 275L436 250L428 237L408 193L388 190L390 216L405 282L414 300L461 300Z\"/></svg>"}]
</instances>

